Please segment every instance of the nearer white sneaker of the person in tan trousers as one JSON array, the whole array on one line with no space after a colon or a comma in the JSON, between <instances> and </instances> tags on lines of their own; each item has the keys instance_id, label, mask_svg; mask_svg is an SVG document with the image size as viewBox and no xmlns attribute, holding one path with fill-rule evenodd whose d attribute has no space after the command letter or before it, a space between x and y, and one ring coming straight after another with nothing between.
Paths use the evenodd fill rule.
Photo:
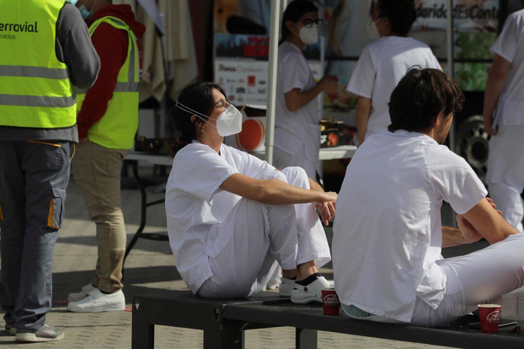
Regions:
<instances>
[{"instance_id":1,"label":"nearer white sneaker of the person in tan trousers","mask_svg":"<svg viewBox=\"0 0 524 349\"><path fill-rule=\"evenodd\" d=\"M67 310L74 312L119 311L125 308L126 299L122 290L112 294L103 294L97 288L89 292L84 299L67 305Z\"/></svg>"}]
</instances>

